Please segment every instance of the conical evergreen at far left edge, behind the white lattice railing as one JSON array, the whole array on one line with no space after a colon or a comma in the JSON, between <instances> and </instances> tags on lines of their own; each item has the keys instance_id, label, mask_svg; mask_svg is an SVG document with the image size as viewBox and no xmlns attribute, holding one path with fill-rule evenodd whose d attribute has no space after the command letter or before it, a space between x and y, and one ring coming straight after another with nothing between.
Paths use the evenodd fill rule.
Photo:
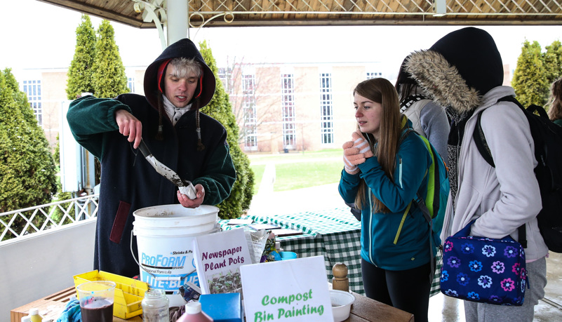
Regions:
<instances>
[{"instance_id":1,"label":"conical evergreen at far left edge, behind the white lattice railing","mask_svg":"<svg viewBox=\"0 0 562 322\"><path fill-rule=\"evenodd\" d=\"M57 189L55 161L11 69L0 72L0 115L0 213L51 202ZM33 223L44 220L36 216ZM25 223L17 217L11 227Z\"/></svg>"}]
</instances>

